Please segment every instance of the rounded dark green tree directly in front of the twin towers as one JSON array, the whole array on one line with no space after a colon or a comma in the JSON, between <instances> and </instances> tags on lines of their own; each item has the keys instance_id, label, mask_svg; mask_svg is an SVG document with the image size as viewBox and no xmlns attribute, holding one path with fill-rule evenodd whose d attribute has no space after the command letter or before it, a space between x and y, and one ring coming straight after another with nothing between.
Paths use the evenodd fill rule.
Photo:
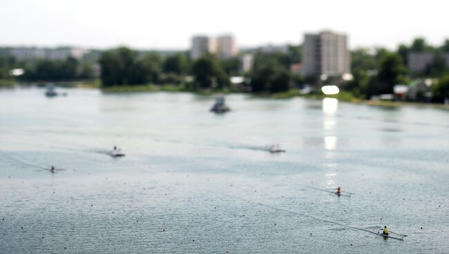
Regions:
<instances>
[{"instance_id":1,"label":"rounded dark green tree directly in front of the twin towers","mask_svg":"<svg viewBox=\"0 0 449 254\"><path fill-rule=\"evenodd\" d=\"M220 61L213 55L203 55L192 66L195 77L194 89L226 88L229 87L229 76L222 68Z\"/></svg>"}]
</instances>

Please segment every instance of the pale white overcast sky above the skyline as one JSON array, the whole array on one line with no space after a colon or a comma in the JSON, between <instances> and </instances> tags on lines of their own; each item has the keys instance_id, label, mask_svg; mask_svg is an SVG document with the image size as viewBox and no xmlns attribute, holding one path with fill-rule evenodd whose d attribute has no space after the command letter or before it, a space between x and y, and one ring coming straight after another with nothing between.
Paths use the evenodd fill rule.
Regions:
<instances>
[{"instance_id":1,"label":"pale white overcast sky above the skyline","mask_svg":"<svg viewBox=\"0 0 449 254\"><path fill-rule=\"evenodd\" d=\"M239 47L300 43L304 32L349 35L350 48L449 37L449 1L0 0L0 46L189 48L232 33Z\"/></svg>"}]
</instances>

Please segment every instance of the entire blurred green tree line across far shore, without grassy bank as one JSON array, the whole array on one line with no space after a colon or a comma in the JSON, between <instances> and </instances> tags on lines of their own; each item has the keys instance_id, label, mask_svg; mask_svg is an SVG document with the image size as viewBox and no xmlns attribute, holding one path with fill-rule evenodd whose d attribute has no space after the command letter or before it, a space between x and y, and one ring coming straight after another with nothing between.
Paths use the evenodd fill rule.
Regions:
<instances>
[{"instance_id":1,"label":"entire blurred green tree line across far shore, without grassy bank","mask_svg":"<svg viewBox=\"0 0 449 254\"><path fill-rule=\"evenodd\" d=\"M422 72L408 69L412 52L434 54L432 63ZM240 70L239 57L220 59L203 55L192 60L187 52L163 56L159 52L140 52L120 47L97 52L88 61L71 57L61 60L18 60L11 56L0 57L0 79L10 77L12 68L24 68L23 80L92 79L93 64L99 64L102 87L138 86L142 84L172 84L185 90L240 90L256 93L276 93L301 88L304 84L324 84L319 77L301 77L290 66L300 63L301 47L288 46L283 52L251 51L254 56L250 72ZM449 54L449 40L441 46L430 46L425 39L417 38L410 45L401 44L397 50L386 48L358 48L351 51L352 81L342 82L341 88L356 97L370 99L373 95L392 94L396 84L409 84L422 77L439 78L432 86L437 101L449 97L449 70L443 57ZM92 58L92 57L91 57ZM245 77L244 84L231 84L231 76Z\"/></svg>"}]
</instances>

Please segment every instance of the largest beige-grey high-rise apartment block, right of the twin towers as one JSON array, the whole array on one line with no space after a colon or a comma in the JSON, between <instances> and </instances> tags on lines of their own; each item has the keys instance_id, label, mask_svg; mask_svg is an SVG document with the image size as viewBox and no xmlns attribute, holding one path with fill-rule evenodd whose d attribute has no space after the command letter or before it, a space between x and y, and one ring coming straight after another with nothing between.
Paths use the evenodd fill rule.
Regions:
<instances>
[{"instance_id":1,"label":"largest beige-grey high-rise apartment block, right of the twin towers","mask_svg":"<svg viewBox=\"0 0 449 254\"><path fill-rule=\"evenodd\" d=\"M351 72L347 36L333 32L306 34L303 43L303 76L343 75Z\"/></svg>"}]
</instances>

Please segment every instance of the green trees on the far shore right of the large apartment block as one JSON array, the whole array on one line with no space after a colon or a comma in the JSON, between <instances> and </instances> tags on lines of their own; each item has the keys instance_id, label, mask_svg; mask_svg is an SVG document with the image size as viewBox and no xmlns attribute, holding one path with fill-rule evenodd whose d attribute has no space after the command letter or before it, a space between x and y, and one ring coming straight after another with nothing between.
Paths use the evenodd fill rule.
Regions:
<instances>
[{"instance_id":1,"label":"green trees on the far shore right of the large apartment block","mask_svg":"<svg viewBox=\"0 0 449 254\"><path fill-rule=\"evenodd\" d=\"M408 68L411 53L432 53L434 58L421 72ZM354 79L347 84L346 90L358 97L370 99L373 95L392 94L397 84L410 84L417 78L437 78L439 82L432 86L434 101L449 98L449 66L443 57L449 54L449 39L441 46L430 46L425 39L417 38L410 45L401 44L397 50L386 48L358 48L352 50L352 75ZM448 88L446 88L448 87Z\"/></svg>"}]
</instances>

